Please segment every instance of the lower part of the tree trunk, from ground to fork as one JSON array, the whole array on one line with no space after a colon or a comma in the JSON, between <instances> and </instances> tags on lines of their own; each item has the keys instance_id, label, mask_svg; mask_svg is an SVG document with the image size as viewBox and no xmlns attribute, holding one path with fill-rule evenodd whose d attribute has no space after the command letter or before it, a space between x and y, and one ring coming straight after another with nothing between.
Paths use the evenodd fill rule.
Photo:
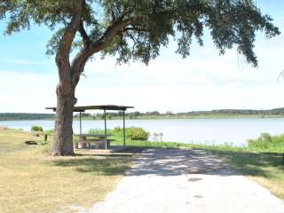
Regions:
<instances>
[{"instance_id":1,"label":"lower part of the tree trunk, from ground to fork","mask_svg":"<svg viewBox=\"0 0 284 213\"><path fill-rule=\"evenodd\" d=\"M57 109L55 135L51 154L54 156L74 155L72 123L75 105L75 89L64 90L64 87L60 85L62 84L59 83L56 91Z\"/></svg>"}]
</instances>

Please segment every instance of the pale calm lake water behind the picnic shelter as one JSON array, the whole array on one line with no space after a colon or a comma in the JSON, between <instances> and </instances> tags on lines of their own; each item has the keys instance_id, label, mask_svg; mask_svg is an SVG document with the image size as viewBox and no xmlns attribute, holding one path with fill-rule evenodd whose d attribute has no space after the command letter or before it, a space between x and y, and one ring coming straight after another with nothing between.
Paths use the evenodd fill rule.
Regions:
<instances>
[{"instance_id":1,"label":"pale calm lake water behind the picnic shelter","mask_svg":"<svg viewBox=\"0 0 284 213\"><path fill-rule=\"evenodd\" d=\"M30 130L33 125L42 126L44 130L54 127L53 121L0 121L0 126ZM74 131L79 133L79 121L74 122ZM122 127L122 121L107 121L107 129ZM161 120L126 120L126 126L136 126L163 134L163 141L223 144L235 146L246 145L248 138L257 138L260 133L284 133L284 118L236 118L236 119L161 119ZM83 132L90 129L103 129L103 121L83 121Z\"/></svg>"}]
</instances>

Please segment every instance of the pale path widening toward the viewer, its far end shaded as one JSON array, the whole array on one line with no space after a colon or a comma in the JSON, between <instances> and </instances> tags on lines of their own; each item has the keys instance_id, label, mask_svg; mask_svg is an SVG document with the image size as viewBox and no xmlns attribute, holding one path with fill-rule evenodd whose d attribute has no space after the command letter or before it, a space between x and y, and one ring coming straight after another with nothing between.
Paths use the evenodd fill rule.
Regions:
<instances>
[{"instance_id":1,"label":"pale path widening toward the viewer, its far end shaded","mask_svg":"<svg viewBox=\"0 0 284 213\"><path fill-rule=\"evenodd\" d=\"M86 212L283 213L284 203L214 155L150 149L105 201Z\"/></svg>"}]
</instances>

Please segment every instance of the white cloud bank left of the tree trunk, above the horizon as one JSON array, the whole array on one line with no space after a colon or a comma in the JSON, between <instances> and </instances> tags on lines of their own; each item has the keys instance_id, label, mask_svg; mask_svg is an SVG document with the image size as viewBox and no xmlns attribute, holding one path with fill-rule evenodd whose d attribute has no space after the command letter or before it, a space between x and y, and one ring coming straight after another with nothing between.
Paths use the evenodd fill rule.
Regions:
<instances>
[{"instance_id":1,"label":"white cloud bank left of the tree trunk, above the horizon","mask_svg":"<svg viewBox=\"0 0 284 213\"><path fill-rule=\"evenodd\" d=\"M56 103L56 76L0 72L1 112L48 113Z\"/></svg>"}]
</instances>

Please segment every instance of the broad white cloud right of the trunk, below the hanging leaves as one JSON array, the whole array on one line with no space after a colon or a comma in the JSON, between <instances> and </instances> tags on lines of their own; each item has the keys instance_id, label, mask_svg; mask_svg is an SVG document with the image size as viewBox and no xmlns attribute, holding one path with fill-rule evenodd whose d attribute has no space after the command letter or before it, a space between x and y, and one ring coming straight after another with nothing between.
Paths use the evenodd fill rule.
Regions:
<instances>
[{"instance_id":1,"label":"broad white cloud right of the trunk, below the hanging leaves","mask_svg":"<svg viewBox=\"0 0 284 213\"><path fill-rule=\"evenodd\" d=\"M220 57L212 45L194 47L188 59L174 54L169 58L164 50L148 67L138 62L115 66L114 59L97 59L87 65L88 78L79 84L77 97L81 105L126 104L140 111L284 106L284 84L277 83L284 67L279 48L283 44L283 36L258 41L257 68L234 50Z\"/></svg>"}]
</instances>

